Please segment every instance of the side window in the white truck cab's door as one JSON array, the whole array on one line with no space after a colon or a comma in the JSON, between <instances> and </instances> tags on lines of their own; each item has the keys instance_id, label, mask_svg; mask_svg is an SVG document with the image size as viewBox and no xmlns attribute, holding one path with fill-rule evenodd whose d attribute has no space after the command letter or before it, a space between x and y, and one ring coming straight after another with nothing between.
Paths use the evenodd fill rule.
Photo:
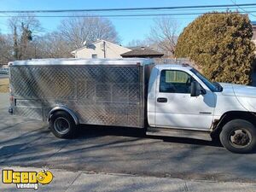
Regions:
<instances>
[{"instance_id":1,"label":"side window in the white truck cab's door","mask_svg":"<svg viewBox=\"0 0 256 192\"><path fill-rule=\"evenodd\" d=\"M162 70L160 73L160 92L188 93L195 81L188 73L177 70Z\"/></svg>"}]
</instances>

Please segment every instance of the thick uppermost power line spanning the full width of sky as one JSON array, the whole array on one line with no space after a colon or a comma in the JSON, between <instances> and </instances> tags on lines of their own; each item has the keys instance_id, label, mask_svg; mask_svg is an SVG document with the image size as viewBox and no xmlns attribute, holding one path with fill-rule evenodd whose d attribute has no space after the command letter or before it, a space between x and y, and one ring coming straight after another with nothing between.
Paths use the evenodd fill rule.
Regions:
<instances>
[{"instance_id":1,"label":"thick uppermost power line spanning the full width of sky","mask_svg":"<svg viewBox=\"0 0 256 192\"><path fill-rule=\"evenodd\" d=\"M178 7L152 7L152 8L119 8L119 9L52 9L52 10L2 10L0 14L36 14L36 13L65 13L65 12L110 12L132 10L161 10L161 9L204 9L204 8L233 8L255 6L256 3L223 4L223 5L195 5Z\"/></svg>"}]
</instances>

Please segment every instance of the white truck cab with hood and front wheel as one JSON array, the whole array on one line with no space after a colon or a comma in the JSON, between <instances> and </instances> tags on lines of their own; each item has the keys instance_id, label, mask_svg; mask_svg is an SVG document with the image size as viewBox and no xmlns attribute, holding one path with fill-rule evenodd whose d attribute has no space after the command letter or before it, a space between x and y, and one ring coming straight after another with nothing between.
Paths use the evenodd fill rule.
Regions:
<instances>
[{"instance_id":1,"label":"white truck cab with hood and front wheel","mask_svg":"<svg viewBox=\"0 0 256 192\"><path fill-rule=\"evenodd\" d=\"M243 153L256 144L255 113L255 87L212 83L188 65L156 65L151 71L149 134L188 132L187 137L201 138L203 132L217 133L224 147Z\"/></svg>"}]
</instances>

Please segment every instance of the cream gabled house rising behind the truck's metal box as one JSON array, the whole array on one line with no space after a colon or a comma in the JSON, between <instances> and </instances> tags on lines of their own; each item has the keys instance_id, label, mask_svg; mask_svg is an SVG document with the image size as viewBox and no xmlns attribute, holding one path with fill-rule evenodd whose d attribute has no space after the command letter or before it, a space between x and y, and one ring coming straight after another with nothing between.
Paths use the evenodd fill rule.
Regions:
<instances>
[{"instance_id":1,"label":"cream gabled house rising behind the truck's metal box","mask_svg":"<svg viewBox=\"0 0 256 192\"><path fill-rule=\"evenodd\" d=\"M120 46L119 44L113 44L106 40L97 40L93 44L85 45L80 49L73 50L71 52L75 58L122 58L121 55L125 52L131 51L131 49Z\"/></svg>"}]
</instances>

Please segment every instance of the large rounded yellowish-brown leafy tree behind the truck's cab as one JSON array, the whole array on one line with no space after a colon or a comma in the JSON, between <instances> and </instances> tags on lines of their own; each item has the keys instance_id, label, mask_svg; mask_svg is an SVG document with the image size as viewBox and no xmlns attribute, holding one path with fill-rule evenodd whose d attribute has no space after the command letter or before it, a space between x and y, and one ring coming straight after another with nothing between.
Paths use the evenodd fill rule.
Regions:
<instances>
[{"instance_id":1,"label":"large rounded yellowish-brown leafy tree behind the truck's cab","mask_svg":"<svg viewBox=\"0 0 256 192\"><path fill-rule=\"evenodd\" d=\"M250 84L255 49L247 15L207 13L184 28L175 55L195 61L212 81Z\"/></svg>"}]
</instances>

